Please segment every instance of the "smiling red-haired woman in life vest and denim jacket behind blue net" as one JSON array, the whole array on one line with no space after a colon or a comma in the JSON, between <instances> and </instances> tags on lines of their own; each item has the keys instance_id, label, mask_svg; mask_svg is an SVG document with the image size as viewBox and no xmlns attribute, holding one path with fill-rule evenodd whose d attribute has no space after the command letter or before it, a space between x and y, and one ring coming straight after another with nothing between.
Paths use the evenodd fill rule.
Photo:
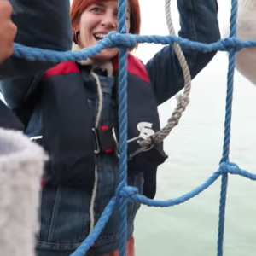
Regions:
<instances>
[{"instance_id":1,"label":"smiling red-haired woman in life vest and denim jacket behind blue net","mask_svg":"<svg viewBox=\"0 0 256 256\"><path fill-rule=\"evenodd\" d=\"M10 1L22 9L22 12L15 9L13 17L18 26L16 39L32 47L68 50L73 38L73 43L81 49L118 30L117 0L73 0L71 19L69 0ZM180 37L205 44L218 41L216 0L179 0L177 8ZM140 24L139 2L128 0L127 32L139 34ZM5 102L25 124L26 135L49 154L42 179L37 256L73 253L116 195L119 137L115 139L113 134L118 135L119 131L118 53L117 48L104 49L90 60L66 61L54 67L48 62L10 58L0 68ZM183 49L192 79L215 54ZM183 86L183 70L172 45L160 49L145 65L129 53L128 139L150 137L159 131L158 106ZM131 156L138 148L136 141L129 143L127 154ZM157 169L166 157L162 143L129 157L128 186L153 199ZM133 230L139 208L137 202L127 204L129 256L134 254ZM118 255L118 247L119 209L116 208L86 256Z\"/></svg>"}]
</instances>

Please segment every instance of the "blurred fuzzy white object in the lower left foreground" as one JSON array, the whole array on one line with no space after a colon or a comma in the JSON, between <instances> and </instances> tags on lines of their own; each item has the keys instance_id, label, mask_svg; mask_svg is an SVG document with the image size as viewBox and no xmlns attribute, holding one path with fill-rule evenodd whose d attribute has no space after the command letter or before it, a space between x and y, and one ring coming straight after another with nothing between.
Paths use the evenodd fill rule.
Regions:
<instances>
[{"instance_id":1,"label":"blurred fuzzy white object in the lower left foreground","mask_svg":"<svg viewBox=\"0 0 256 256\"><path fill-rule=\"evenodd\" d=\"M0 128L0 255L33 256L44 151Z\"/></svg>"}]
</instances>

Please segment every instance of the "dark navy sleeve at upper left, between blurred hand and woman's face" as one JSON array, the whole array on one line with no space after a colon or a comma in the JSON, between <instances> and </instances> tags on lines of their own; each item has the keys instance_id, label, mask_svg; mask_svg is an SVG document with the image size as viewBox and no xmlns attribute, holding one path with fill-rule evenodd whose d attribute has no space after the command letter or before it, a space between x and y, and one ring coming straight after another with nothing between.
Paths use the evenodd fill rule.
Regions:
<instances>
[{"instance_id":1,"label":"dark navy sleeve at upper left, between blurred hand and woman's face","mask_svg":"<svg viewBox=\"0 0 256 256\"><path fill-rule=\"evenodd\" d=\"M15 43L67 51L72 47L69 0L9 0L13 6L12 20L18 27ZM10 57L0 67L1 92L10 107L24 100L38 77L55 63L26 61Z\"/></svg>"}]
</instances>

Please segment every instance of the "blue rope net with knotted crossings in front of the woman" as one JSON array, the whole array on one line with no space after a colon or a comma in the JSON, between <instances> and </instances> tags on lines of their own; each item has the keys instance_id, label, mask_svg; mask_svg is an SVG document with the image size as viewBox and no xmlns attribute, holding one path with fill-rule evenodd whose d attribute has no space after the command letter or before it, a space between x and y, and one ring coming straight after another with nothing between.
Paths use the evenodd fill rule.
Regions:
<instances>
[{"instance_id":1,"label":"blue rope net with knotted crossings in front of the woman","mask_svg":"<svg viewBox=\"0 0 256 256\"><path fill-rule=\"evenodd\" d=\"M223 255L223 241L224 241L224 215L226 205L226 193L228 184L228 173L233 175L240 175L241 177L249 178L256 181L256 175L245 170L241 170L239 166L231 163L229 160L230 154L230 127L231 127L231 113L232 113L232 98L233 98L233 77L235 71L235 55L236 51L256 46L256 40L248 40L246 42L236 38L236 13L237 13L237 0L232 0L232 9L230 16L230 37L218 40L213 44L201 44L189 41L188 39L177 38L176 36L139 36L126 33L125 18L126 18L126 0L119 0L119 32L110 32L108 36L102 39L94 46L82 49L80 51L67 51L56 52L48 49L36 49L25 47L20 44L15 44L15 57L25 58L29 61L82 61L92 55L96 55L102 49L119 47L119 152L120 152L120 175L119 187L117 188L116 195L102 213L101 218L98 220L94 230L84 240L79 248L70 256L84 256L96 241L101 233L108 218L113 212L113 208L119 205L120 225L119 225L119 251L120 256L125 256L125 243L126 243L126 205L127 201L137 201L148 207L172 207L181 204L189 199L199 195L203 190L207 189L214 183L219 176L221 179L221 191L219 202L219 220L218 220L218 244L217 256ZM138 195L137 188L128 187L126 183L127 177L127 101L126 101L126 86L127 86L127 48L134 47L137 43L154 43L154 44L180 44L187 49L200 50L202 52L209 52L213 50L229 51L229 71L227 82L227 96L226 96L226 114L224 121L224 145L223 155L219 163L217 172L214 172L207 181L198 188L182 195L176 199L168 201L150 200L143 195Z\"/></svg>"}]
</instances>

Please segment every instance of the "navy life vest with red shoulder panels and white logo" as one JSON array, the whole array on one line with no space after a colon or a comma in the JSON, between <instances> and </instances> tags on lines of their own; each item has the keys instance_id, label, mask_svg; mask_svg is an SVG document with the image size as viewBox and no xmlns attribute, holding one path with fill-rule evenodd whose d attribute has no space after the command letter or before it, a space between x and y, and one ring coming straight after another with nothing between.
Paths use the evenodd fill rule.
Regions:
<instances>
[{"instance_id":1,"label":"navy life vest with red shoulder panels and white logo","mask_svg":"<svg viewBox=\"0 0 256 256\"><path fill-rule=\"evenodd\" d=\"M90 191L98 159L101 159L101 166L104 163L108 165L109 161L112 167L119 166L114 152L114 140L111 143L112 129L115 130L117 141L119 140L118 86L114 83L119 74L117 58L113 58L113 68L113 78L107 78L99 68L94 69L94 73L102 81L103 96L100 110L102 117L97 127L95 124L96 113L99 111L98 95L96 80L90 73L91 67L67 61L44 73L35 95L35 111L28 124L28 130L32 128L32 136L42 137L40 144L50 155L44 173L45 185L83 187ZM149 131L141 130L141 125L149 126L152 133L160 131L157 102L147 70L133 55L128 55L127 82L128 140L149 135ZM111 84L114 86L110 89ZM34 118L37 119L35 123ZM34 124L38 129L33 129ZM102 140L105 148L102 148L101 154L97 154L94 152L98 148L95 147L92 128L101 127L104 131L109 127L110 131ZM104 145L107 137L108 143ZM101 137L98 137L98 141L100 140ZM136 152L138 148L137 143L129 143L128 155ZM106 158L106 154L110 154L109 157ZM155 144L150 150L129 157L128 176L156 170L165 160L162 143Z\"/></svg>"}]
</instances>

